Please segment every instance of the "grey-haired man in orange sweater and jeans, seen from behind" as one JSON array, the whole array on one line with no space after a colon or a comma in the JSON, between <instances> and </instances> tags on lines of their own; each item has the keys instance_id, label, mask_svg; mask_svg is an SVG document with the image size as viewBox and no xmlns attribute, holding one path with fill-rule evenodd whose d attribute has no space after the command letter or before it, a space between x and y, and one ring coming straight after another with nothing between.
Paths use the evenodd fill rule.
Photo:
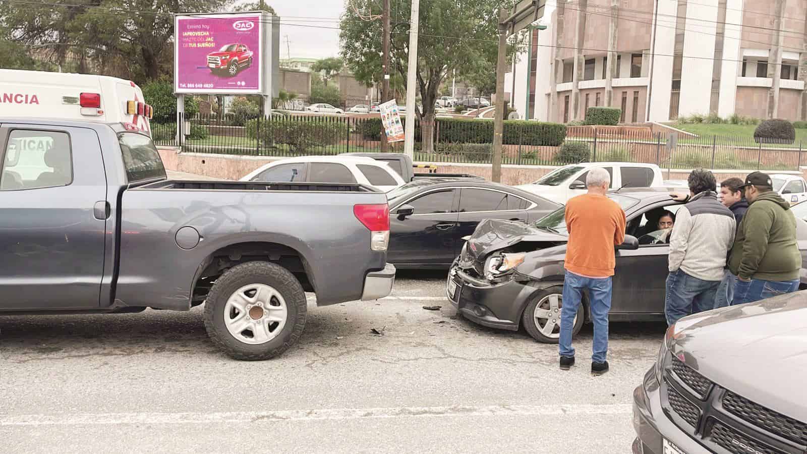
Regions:
<instances>
[{"instance_id":1,"label":"grey-haired man in orange sweater and jeans, seen from behind","mask_svg":"<svg viewBox=\"0 0 807 454\"><path fill-rule=\"evenodd\" d=\"M625 212L606 195L610 184L611 178L605 169L592 169L586 178L588 193L573 197L566 204L569 242L559 341L560 368L563 370L569 370L575 364L571 332L583 289L587 288L594 322L592 374L608 372L605 356L608 352L611 276L617 264L614 249L625 241Z\"/></svg>"}]
</instances>

